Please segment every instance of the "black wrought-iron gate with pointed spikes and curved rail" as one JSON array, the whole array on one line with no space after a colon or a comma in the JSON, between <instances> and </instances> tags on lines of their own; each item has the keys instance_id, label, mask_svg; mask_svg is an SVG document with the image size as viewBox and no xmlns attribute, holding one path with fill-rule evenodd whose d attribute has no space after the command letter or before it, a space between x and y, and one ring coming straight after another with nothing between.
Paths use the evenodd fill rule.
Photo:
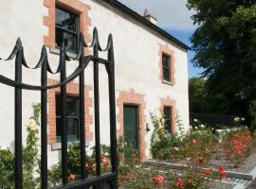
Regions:
<instances>
[{"instance_id":1,"label":"black wrought-iron gate with pointed spikes and curved rail","mask_svg":"<svg viewBox=\"0 0 256 189\"><path fill-rule=\"evenodd\" d=\"M93 55L84 56L84 47L93 48ZM107 52L107 60L99 57L99 51ZM41 92L41 187L47 188L47 90L61 88L61 141L62 141L62 180L64 189L72 188L118 188L118 164L117 164L117 131L116 131L116 105L115 105L115 60L112 34L108 36L105 49L101 48L98 30L94 28L91 45L84 42L80 34L79 52L75 60L79 60L79 66L66 77L66 55L65 45L60 49L60 62L56 72L50 68L46 46L44 45L39 62L33 69L41 69L41 85L32 86L22 82L22 67L27 66L24 57L24 48L18 38L13 51L7 60L15 58L15 80L0 75L0 82L14 88L14 144L15 144L15 188L23 188L23 155L22 155L22 90L33 90ZM95 178L86 178L85 174L85 135L84 135L84 69L90 61L94 65L94 113L95 113L95 144L96 144L96 173ZM101 140L100 140L100 103L99 103L99 63L105 65L108 75L109 109L110 109L110 152L111 173L101 175ZM47 85L47 73L60 74L58 84ZM81 143L81 180L68 183L67 176L67 128L66 128L66 84L79 77L79 103L80 103L80 143Z\"/></svg>"}]
</instances>

